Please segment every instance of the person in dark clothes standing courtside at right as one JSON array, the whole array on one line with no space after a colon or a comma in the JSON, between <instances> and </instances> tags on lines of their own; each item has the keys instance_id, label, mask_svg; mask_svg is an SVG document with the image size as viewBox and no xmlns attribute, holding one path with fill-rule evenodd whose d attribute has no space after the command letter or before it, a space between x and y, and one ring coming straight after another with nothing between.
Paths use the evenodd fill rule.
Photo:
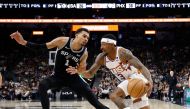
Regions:
<instances>
[{"instance_id":1,"label":"person in dark clothes standing courtside at right","mask_svg":"<svg viewBox=\"0 0 190 109\"><path fill-rule=\"evenodd\" d=\"M171 101L171 94L173 93L173 97L176 96L176 85L177 85L177 78L174 75L174 71L170 71L168 76L168 84L169 84L169 100Z\"/></svg>"}]
</instances>

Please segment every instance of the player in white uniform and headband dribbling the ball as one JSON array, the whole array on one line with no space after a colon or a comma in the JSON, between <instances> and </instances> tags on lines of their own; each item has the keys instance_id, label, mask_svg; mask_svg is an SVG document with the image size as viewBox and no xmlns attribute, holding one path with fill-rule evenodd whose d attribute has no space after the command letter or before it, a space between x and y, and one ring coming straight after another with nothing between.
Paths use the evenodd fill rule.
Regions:
<instances>
[{"instance_id":1,"label":"player in white uniform and headband dribbling the ball","mask_svg":"<svg viewBox=\"0 0 190 109\"><path fill-rule=\"evenodd\" d=\"M130 50L116 46L116 38L112 34L107 34L102 37L101 49L103 53L97 56L91 68L80 74L83 74L86 78L91 78L101 66L105 65L109 68L111 72L122 81L110 94L110 99L119 109L127 108L124 98L129 95L127 92L128 78L143 79L147 83L147 95L150 95L152 90L151 74ZM70 67L67 69L67 72L75 74L77 73L77 69ZM150 109L147 95L145 94L141 98L132 98L134 104L133 108Z\"/></svg>"}]
</instances>

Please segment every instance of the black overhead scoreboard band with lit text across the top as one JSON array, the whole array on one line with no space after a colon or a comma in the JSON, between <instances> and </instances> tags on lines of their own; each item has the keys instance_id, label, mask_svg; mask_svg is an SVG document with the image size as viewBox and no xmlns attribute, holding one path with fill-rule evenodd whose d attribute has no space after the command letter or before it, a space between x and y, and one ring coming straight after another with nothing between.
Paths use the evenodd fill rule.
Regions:
<instances>
[{"instance_id":1,"label":"black overhead scoreboard band with lit text across the top","mask_svg":"<svg viewBox=\"0 0 190 109\"><path fill-rule=\"evenodd\" d=\"M0 18L168 18L188 17L190 2L1 2Z\"/></svg>"}]
</instances>

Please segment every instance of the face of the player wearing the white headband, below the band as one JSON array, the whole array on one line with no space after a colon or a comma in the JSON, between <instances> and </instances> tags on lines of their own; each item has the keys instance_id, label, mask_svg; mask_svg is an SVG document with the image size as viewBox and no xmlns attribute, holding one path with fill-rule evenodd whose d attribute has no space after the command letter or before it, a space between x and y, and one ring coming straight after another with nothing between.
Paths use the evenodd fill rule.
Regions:
<instances>
[{"instance_id":1,"label":"face of the player wearing the white headband, below the band","mask_svg":"<svg viewBox=\"0 0 190 109\"><path fill-rule=\"evenodd\" d=\"M102 42L100 49L105 53L110 53L113 50L113 44Z\"/></svg>"}]
</instances>

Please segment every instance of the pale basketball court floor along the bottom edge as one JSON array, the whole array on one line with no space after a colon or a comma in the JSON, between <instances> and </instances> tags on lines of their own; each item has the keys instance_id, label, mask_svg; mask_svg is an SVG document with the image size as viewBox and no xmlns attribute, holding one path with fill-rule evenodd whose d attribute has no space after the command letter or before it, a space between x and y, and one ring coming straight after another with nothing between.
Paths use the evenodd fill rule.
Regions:
<instances>
[{"instance_id":1,"label":"pale basketball court floor along the bottom edge","mask_svg":"<svg viewBox=\"0 0 190 109\"><path fill-rule=\"evenodd\" d=\"M110 109L118 109L108 99L102 99L100 101ZM126 102L130 103L129 100ZM95 109L88 103L88 101L56 101L51 102L50 105L50 109ZM188 105L180 106L155 99L150 100L150 105L151 109L190 109L190 106ZM0 101L0 109L41 109L41 104L40 102L31 101Z\"/></svg>"}]
</instances>

